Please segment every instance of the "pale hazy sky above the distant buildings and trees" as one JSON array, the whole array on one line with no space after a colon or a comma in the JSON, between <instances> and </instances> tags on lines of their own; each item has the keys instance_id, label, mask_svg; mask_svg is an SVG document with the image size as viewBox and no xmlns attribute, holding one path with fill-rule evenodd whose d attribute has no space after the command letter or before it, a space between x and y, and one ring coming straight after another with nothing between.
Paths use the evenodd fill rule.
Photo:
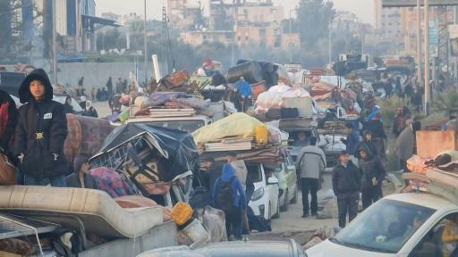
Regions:
<instances>
[{"instance_id":1,"label":"pale hazy sky above the distant buildings and trees","mask_svg":"<svg viewBox=\"0 0 458 257\"><path fill-rule=\"evenodd\" d=\"M160 19L162 4L166 0L146 0L148 17ZM208 0L201 0L208 4ZM362 21L373 23L373 0L332 0L337 10L350 11L356 13ZM190 3L197 3L198 0L189 0ZM137 12L143 15L143 0L96 0L97 14L101 12L114 12L117 14L127 14ZM166 2L165 2L166 3ZM299 0L274 0L276 4L283 4L285 7L284 15L287 16L288 10L293 9ZM206 5L207 6L207 5ZM207 9L207 7L206 7Z\"/></svg>"}]
</instances>

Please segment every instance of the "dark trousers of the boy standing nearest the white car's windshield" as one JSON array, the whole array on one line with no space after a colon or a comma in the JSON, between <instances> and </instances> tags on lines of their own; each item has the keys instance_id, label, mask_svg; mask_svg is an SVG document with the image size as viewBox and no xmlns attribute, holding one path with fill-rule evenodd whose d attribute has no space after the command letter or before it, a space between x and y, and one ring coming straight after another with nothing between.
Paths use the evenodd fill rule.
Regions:
<instances>
[{"instance_id":1,"label":"dark trousers of the boy standing nearest the white car's windshield","mask_svg":"<svg viewBox=\"0 0 458 257\"><path fill-rule=\"evenodd\" d=\"M337 195L337 206L339 209L339 227L345 228L347 214L349 222L358 214L358 203L360 202L359 192L340 193Z\"/></svg>"}]
</instances>

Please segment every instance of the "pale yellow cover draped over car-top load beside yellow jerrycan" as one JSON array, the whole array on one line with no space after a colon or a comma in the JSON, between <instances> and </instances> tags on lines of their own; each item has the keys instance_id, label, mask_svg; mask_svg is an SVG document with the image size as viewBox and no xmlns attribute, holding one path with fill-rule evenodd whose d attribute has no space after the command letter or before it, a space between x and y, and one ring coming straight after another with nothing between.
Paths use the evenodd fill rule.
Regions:
<instances>
[{"instance_id":1,"label":"pale yellow cover draped over car-top load beside yellow jerrycan","mask_svg":"<svg viewBox=\"0 0 458 257\"><path fill-rule=\"evenodd\" d=\"M259 125L263 125L261 121L237 112L196 130L192 136L197 144L216 142L225 137L254 137Z\"/></svg>"}]
</instances>

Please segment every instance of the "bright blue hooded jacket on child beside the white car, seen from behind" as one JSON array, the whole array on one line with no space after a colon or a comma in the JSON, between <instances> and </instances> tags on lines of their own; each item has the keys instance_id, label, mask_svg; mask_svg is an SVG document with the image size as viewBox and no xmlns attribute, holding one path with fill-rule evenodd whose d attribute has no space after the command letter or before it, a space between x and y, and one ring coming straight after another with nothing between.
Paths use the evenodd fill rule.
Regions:
<instances>
[{"instance_id":1,"label":"bright blue hooded jacket on child beside the white car, seen from behind","mask_svg":"<svg viewBox=\"0 0 458 257\"><path fill-rule=\"evenodd\" d=\"M216 179L215 182L215 187L213 187L213 192L211 195L211 205L215 207L216 209L219 207L217 206L216 203L216 195L219 193L219 186L220 186L220 180L222 182L229 182L231 178L235 177L235 170L233 169L233 166L231 164L226 163L225 166L223 167L223 174L221 175L220 178ZM233 179L233 206L242 208L242 210L245 210L247 206L247 199L245 196L245 192L243 191L242 184L240 183L239 178L234 178Z\"/></svg>"}]
</instances>

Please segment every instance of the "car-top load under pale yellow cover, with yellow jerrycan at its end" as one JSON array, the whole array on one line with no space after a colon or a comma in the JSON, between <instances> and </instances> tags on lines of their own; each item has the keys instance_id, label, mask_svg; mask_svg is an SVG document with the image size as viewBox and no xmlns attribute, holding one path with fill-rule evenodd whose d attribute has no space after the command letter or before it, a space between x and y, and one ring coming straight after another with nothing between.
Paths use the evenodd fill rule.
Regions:
<instances>
[{"instance_id":1,"label":"car-top load under pale yellow cover, with yellow jerrycan at its end","mask_svg":"<svg viewBox=\"0 0 458 257\"><path fill-rule=\"evenodd\" d=\"M280 130L269 127L245 113L237 112L196 130L192 136L200 152L259 149L281 143Z\"/></svg>"}]
</instances>

